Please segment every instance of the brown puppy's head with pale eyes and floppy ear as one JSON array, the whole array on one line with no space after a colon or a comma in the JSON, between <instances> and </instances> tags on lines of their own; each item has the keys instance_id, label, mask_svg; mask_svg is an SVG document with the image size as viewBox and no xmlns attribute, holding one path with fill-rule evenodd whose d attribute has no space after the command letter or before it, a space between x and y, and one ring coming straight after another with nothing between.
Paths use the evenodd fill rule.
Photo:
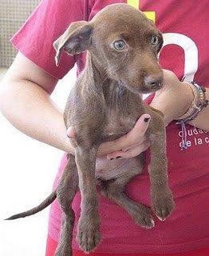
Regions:
<instances>
[{"instance_id":1,"label":"brown puppy's head with pale eyes and floppy ear","mask_svg":"<svg viewBox=\"0 0 209 256\"><path fill-rule=\"evenodd\" d=\"M157 61L162 45L162 34L153 22L126 4L107 6L90 22L72 23L53 44L57 65L62 50L68 54L89 50L108 78L138 94L163 85L163 71Z\"/></svg>"}]
</instances>

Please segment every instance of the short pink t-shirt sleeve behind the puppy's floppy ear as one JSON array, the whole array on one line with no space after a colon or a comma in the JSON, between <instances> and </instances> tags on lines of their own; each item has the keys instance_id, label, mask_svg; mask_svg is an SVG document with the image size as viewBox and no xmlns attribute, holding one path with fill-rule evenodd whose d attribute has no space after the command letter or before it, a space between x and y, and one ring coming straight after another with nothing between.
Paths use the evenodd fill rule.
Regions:
<instances>
[{"instance_id":1,"label":"short pink t-shirt sleeve behind the puppy's floppy ear","mask_svg":"<svg viewBox=\"0 0 209 256\"><path fill-rule=\"evenodd\" d=\"M63 78L74 66L74 56L63 53L55 65L53 42L71 22L84 20L85 5L77 0L42 0L11 42L22 54L55 78Z\"/></svg>"}]
</instances>

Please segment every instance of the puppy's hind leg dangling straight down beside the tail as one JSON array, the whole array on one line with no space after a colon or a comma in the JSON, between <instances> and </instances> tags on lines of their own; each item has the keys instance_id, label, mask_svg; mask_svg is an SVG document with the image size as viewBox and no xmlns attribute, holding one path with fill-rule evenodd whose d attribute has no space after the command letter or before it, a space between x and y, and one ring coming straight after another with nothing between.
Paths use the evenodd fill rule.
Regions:
<instances>
[{"instance_id":1,"label":"puppy's hind leg dangling straight down beside the tail","mask_svg":"<svg viewBox=\"0 0 209 256\"><path fill-rule=\"evenodd\" d=\"M61 206L62 215L60 240L55 256L72 255L72 237L75 217L71 204L78 189L78 177L74 156L69 155L68 158L69 162L65 167L60 184L57 187L57 199Z\"/></svg>"}]
</instances>

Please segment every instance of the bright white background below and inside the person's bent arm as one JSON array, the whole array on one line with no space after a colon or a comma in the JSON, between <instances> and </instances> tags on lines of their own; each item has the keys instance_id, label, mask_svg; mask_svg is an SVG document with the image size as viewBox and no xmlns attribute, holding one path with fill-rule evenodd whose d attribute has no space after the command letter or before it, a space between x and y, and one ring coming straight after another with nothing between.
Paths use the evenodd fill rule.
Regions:
<instances>
[{"instance_id":1,"label":"bright white background below and inside the person's bent arm","mask_svg":"<svg viewBox=\"0 0 209 256\"><path fill-rule=\"evenodd\" d=\"M0 76L1 77L1 76ZM62 109L76 79L75 68L52 94ZM29 218L3 221L37 206L49 195L63 152L26 137L0 114L0 255L45 255L49 208Z\"/></svg>"}]
</instances>

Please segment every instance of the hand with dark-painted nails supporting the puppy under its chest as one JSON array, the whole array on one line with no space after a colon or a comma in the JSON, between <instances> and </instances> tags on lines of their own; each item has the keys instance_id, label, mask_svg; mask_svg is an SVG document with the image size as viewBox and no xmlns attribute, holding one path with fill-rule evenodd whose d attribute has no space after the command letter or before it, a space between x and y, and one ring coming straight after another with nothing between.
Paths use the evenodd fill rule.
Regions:
<instances>
[{"instance_id":1,"label":"hand with dark-painted nails supporting the puppy under its chest","mask_svg":"<svg viewBox=\"0 0 209 256\"><path fill-rule=\"evenodd\" d=\"M145 132L148 129L150 121L149 114L142 114L136 125L132 130L124 136L112 141L104 142L101 144L98 150L98 157L107 155L108 159L112 158L133 158L136 155L141 154L149 147L149 142L146 138ZM73 138L73 130L71 127L67 130L67 135Z\"/></svg>"}]
</instances>

